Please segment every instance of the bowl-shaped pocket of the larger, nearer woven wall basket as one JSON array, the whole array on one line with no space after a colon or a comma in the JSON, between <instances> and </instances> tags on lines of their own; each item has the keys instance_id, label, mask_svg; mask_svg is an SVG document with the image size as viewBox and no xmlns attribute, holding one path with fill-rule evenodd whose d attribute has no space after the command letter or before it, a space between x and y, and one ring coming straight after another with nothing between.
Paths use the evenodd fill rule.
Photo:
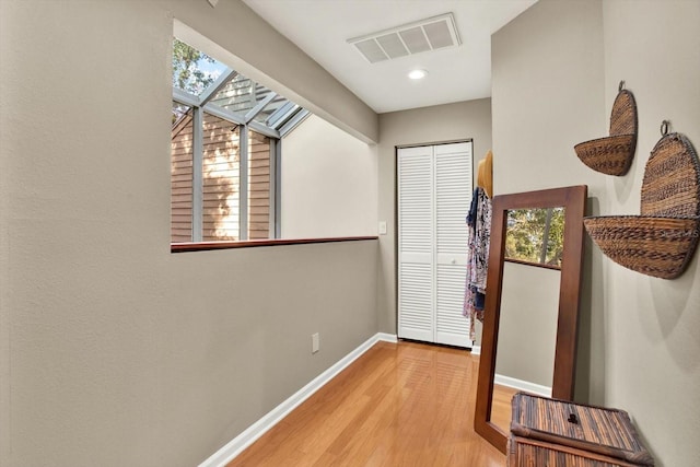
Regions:
<instances>
[{"instance_id":1,"label":"bowl-shaped pocket of the larger, nearer woven wall basket","mask_svg":"<svg viewBox=\"0 0 700 467\"><path fill-rule=\"evenodd\" d=\"M682 273L700 236L697 219L608 215L587 218L583 223L615 262L662 279Z\"/></svg>"}]
</instances>

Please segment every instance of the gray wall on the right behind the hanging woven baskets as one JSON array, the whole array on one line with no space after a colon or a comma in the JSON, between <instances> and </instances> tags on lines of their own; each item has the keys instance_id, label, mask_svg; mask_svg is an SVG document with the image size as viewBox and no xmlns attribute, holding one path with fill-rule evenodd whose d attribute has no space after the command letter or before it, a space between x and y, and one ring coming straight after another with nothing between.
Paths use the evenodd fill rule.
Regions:
<instances>
[{"instance_id":1,"label":"gray wall on the right behind the hanging woven baskets","mask_svg":"<svg viewBox=\"0 0 700 467\"><path fill-rule=\"evenodd\" d=\"M700 3L540 0L492 37L495 192L587 184L592 214L639 214L662 119L700 145ZM634 163L598 174L573 145L607 133L618 82L639 108ZM677 280L587 242L576 398L626 409L661 466L700 464L698 254Z\"/></svg>"}]
</instances>

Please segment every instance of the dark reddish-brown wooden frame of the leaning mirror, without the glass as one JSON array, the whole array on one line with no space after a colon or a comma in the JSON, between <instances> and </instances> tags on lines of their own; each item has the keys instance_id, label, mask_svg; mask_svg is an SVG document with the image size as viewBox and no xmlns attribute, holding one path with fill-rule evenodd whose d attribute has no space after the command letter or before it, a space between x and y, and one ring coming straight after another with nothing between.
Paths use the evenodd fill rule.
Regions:
<instances>
[{"instance_id":1,"label":"dark reddish-brown wooden frame of the leaning mirror, without the glass","mask_svg":"<svg viewBox=\"0 0 700 467\"><path fill-rule=\"evenodd\" d=\"M503 262L508 211L527 208L564 207L564 244L559 284L559 314L551 397L573 398L576 365L576 340L581 276L583 269L583 215L587 186L579 185L538 191L499 195L493 198L489 271L483 311L479 381L474 418L475 431L502 453L506 451L508 433L491 422L495 349L501 317Z\"/></svg>"}]
</instances>

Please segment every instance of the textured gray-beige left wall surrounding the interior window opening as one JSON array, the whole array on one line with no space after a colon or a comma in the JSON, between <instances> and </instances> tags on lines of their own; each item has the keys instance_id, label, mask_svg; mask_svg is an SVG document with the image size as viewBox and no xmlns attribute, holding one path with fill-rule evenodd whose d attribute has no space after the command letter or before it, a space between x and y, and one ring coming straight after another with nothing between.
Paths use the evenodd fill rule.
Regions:
<instances>
[{"instance_id":1,"label":"textured gray-beige left wall surrounding the interior window opening","mask_svg":"<svg viewBox=\"0 0 700 467\"><path fill-rule=\"evenodd\" d=\"M376 132L240 2L0 1L2 466L197 465L377 331L376 241L170 253L174 16Z\"/></svg>"}]
</instances>

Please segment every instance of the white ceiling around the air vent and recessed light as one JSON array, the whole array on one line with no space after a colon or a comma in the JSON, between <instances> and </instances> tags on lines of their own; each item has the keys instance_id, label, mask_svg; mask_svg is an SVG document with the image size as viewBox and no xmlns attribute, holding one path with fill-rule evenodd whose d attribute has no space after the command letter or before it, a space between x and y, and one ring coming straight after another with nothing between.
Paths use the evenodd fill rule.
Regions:
<instances>
[{"instance_id":1,"label":"white ceiling around the air vent and recessed light","mask_svg":"<svg viewBox=\"0 0 700 467\"><path fill-rule=\"evenodd\" d=\"M491 95L491 34L536 0L243 0L376 113ZM452 12L462 45L378 63L348 39ZM421 81L407 78L422 68Z\"/></svg>"}]
</instances>

